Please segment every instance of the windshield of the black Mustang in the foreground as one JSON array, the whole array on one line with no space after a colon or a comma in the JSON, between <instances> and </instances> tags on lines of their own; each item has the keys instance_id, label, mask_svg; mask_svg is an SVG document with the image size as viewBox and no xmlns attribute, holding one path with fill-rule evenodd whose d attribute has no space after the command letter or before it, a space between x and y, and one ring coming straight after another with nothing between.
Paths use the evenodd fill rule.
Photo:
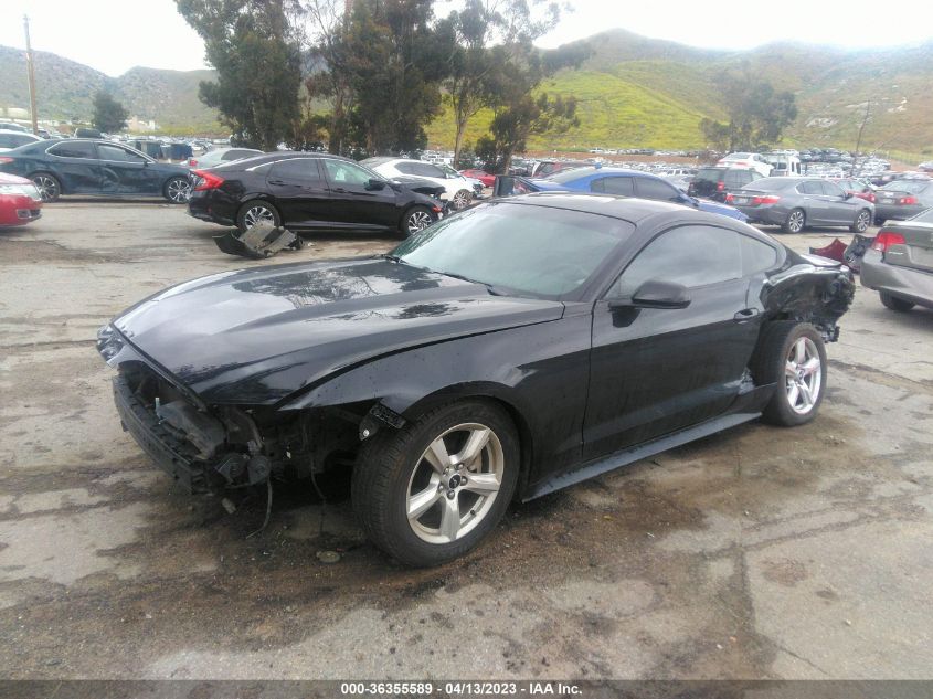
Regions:
<instances>
[{"instance_id":1,"label":"windshield of the black Mustang in the foreground","mask_svg":"<svg viewBox=\"0 0 933 699\"><path fill-rule=\"evenodd\" d=\"M494 290L560 298L583 286L632 231L611 216L495 202L425 229L391 256Z\"/></svg>"}]
</instances>

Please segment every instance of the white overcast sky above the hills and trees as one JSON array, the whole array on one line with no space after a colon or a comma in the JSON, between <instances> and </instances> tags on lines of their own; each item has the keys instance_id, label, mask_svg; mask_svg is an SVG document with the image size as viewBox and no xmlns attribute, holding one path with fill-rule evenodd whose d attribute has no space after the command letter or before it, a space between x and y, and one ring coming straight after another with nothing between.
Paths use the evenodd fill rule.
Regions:
<instances>
[{"instance_id":1,"label":"white overcast sky above the hills and trees","mask_svg":"<svg viewBox=\"0 0 933 699\"><path fill-rule=\"evenodd\" d=\"M572 0L560 27L539 44L553 47L609 28L695 46L750 49L796 40L838 46L891 46L933 39L931 0L781 0L697 2ZM886 8L890 7L890 11ZM203 44L173 0L0 0L0 44L24 47L30 15L33 49L51 51L117 76L136 65L205 67Z\"/></svg>"}]
</instances>

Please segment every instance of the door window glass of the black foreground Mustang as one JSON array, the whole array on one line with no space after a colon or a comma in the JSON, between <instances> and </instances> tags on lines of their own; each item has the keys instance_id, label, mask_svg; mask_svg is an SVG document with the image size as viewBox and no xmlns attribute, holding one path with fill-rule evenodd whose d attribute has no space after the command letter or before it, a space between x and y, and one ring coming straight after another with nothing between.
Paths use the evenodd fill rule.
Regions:
<instances>
[{"instance_id":1,"label":"door window glass of the black foreground Mustang","mask_svg":"<svg viewBox=\"0 0 933 699\"><path fill-rule=\"evenodd\" d=\"M638 253L613 285L611 298L630 297L645 282L671 282L691 288L742 276L740 235L706 225L661 233Z\"/></svg>"}]
</instances>

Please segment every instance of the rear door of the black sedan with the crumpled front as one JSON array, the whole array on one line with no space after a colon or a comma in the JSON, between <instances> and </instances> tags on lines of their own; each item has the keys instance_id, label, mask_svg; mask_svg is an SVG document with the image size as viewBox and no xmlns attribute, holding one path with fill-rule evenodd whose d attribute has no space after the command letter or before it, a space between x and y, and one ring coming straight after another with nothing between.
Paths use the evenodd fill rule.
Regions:
<instances>
[{"instance_id":1,"label":"rear door of the black sedan with the crumpled front","mask_svg":"<svg viewBox=\"0 0 933 699\"><path fill-rule=\"evenodd\" d=\"M341 221L320 158L286 158L273 162L266 187L286 227L320 227Z\"/></svg>"}]
</instances>

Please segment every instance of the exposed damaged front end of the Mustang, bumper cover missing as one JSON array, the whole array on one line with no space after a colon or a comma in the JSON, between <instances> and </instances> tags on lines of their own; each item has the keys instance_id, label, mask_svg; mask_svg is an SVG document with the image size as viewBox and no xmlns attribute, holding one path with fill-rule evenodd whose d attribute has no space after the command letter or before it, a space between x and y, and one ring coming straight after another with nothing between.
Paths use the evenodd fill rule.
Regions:
<instances>
[{"instance_id":1,"label":"exposed damaged front end of the Mustang, bumper cover missing","mask_svg":"<svg viewBox=\"0 0 933 699\"><path fill-rule=\"evenodd\" d=\"M367 405L290 413L205 405L113 326L98 332L97 350L118 370L113 391L124 431L190 494L314 476L354 458Z\"/></svg>"}]
</instances>

